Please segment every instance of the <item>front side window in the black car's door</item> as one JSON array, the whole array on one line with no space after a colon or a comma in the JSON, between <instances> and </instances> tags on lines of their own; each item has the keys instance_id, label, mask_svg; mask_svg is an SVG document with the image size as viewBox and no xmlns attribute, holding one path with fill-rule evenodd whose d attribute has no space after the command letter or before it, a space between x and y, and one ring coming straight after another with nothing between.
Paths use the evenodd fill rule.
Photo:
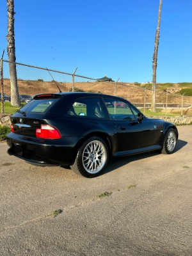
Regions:
<instances>
[{"instance_id":1,"label":"front side window in the black car's door","mask_svg":"<svg viewBox=\"0 0 192 256\"><path fill-rule=\"evenodd\" d=\"M129 105L124 101L104 98L104 102L112 120L136 120Z\"/></svg>"}]
</instances>

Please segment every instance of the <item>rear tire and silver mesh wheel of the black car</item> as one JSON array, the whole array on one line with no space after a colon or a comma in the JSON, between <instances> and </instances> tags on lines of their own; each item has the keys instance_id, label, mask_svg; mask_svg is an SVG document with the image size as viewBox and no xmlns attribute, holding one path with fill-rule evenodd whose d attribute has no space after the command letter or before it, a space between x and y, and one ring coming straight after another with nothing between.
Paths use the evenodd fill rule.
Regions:
<instances>
[{"instance_id":1,"label":"rear tire and silver mesh wheel of the black car","mask_svg":"<svg viewBox=\"0 0 192 256\"><path fill-rule=\"evenodd\" d=\"M76 161L70 168L78 175L94 178L104 170L108 158L109 152L106 142L98 136L93 136L81 145Z\"/></svg>"}]
</instances>

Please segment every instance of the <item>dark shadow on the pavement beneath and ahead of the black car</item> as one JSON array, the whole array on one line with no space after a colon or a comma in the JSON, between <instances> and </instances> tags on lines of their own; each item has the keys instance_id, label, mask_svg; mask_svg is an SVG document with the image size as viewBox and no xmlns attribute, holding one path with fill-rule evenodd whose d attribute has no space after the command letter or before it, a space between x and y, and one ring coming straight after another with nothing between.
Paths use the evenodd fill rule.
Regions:
<instances>
[{"instance_id":1,"label":"dark shadow on the pavement beneath and ahead of the black car","mask_svg":"<svg viewBox=\"0 0 192 256\"><path fill-rule=\"evenodd\" d=\"M179 151L181 148L185 147L187 144L188 144L187 141L178 140L175 152ZM110 159L108 165L104 169L104 172L102 172L100 175L104 175L108 172L112 172L113 170L116 170L127 163L145 159L147 157L153 157L153 156L156 156L157 154L161 154L161 153L158 150L155 150L155 151L145 152L141 154Z\"/></svg>"}]
</instances>

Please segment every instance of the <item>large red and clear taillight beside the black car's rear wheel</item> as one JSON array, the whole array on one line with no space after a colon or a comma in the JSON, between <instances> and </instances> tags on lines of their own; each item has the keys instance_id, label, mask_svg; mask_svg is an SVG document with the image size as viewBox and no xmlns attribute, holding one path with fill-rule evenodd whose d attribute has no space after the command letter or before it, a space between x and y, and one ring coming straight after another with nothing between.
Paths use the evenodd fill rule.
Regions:
<instances>
[{"instance_id":1,"label":"large red and clear taillight beside the black car's rear wheel","mask_svg":"<svg viewBox=\"0 0 192 256\"><path fill-rule=\"evenodd\" d=\"M61 134L56 127L42 124L40 129L36 129L36 138L60 139Z\"/></svg>"}]
</instances>

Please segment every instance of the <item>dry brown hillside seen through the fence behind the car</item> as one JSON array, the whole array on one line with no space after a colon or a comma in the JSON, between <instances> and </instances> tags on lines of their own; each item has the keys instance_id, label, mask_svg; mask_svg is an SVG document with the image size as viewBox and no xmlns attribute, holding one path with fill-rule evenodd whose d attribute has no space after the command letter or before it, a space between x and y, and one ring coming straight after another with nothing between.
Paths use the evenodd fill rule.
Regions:
<instances>
[{"instance_id":1,"label":"dry brown hillside seen through the fence behind the car","mask_svg":"<svg viewBox=\"0 0 192 256\"><path fill-rule=\"evenodd\" d=\"M122 85L116 85L116 95L119 97L124 97L130 100L132 103L142 103L144 100L144 90L147 84L132 84L132 83L121 83ZM69 92L72 87L72 83L58 83L62 92ZM80 88L85 92L101 92L105 94L114 95L115 86L112 83L100 83L100 82L79 82L75 83L76 88ZM128 87L131 86L131 87ZM58 92L58 88L54 81L32 81L32 80L18 80L19 94L29 94L35 95L36 93L53 93ZM148 84L148 88L151 88L151 84ZM183 89L192 90L192 83L161 83L157 84L157 102L166 102L166 93L168 89L172 94L168 94L168 102L180 104L181 95L180 91ZM4 92L10 95L10 80L4 79ZM151 101L151 91L146 91L146 102ZM184 103L192 104L192 97L184 97Z\"/></svg>"}]
</instances>

